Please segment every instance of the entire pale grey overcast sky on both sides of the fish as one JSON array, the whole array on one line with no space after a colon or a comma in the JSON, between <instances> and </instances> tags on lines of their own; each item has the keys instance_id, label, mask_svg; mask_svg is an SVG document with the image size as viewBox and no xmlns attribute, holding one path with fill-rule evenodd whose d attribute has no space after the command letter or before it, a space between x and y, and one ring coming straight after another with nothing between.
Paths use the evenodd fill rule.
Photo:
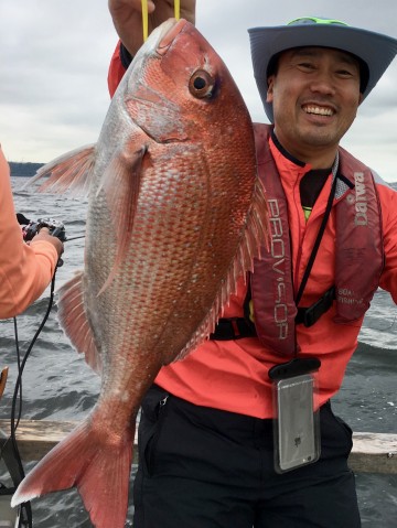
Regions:
<instances>
[{"instance_id":1,"label":"entire pale grey overcast sky on both sides of the fish","mask_svg":"<svg viewBox=\"0 0 397 528\"><path fill-rule=\"evenodd\" d=\"M197 29L227 64L256 121L266 116L247 28L302 15L397 37L396 0L197 0ZM0 0L0 142L9 161L47 162L96 141L116 42L107 0ZM342 142L389 182L397 181L396 86L395 60Z\"/></svg>"}]
</instances>

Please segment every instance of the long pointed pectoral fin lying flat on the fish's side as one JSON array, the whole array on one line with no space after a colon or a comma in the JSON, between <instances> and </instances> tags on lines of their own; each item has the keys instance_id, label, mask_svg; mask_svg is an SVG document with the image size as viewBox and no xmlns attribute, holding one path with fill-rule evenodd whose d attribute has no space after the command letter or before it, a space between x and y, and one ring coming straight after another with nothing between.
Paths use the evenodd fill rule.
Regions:
<instances>
[{"instance_id":1,"label":"long pointed pectoral fin lying flat on the fish's side","mask_svg":"<svg viewBox=\"0 0 397 528\"><path fill-rule=\"evenodd\" d=\"M117 238L117 254L110 273L98 295L109 287L126 257L141 184L142 161L147 150L146 146L138 149L133 143L129 148L127 146L122 153L114 158L103 176L98 193L103 190L106 195Z\"/></svg>"}]
</instances>

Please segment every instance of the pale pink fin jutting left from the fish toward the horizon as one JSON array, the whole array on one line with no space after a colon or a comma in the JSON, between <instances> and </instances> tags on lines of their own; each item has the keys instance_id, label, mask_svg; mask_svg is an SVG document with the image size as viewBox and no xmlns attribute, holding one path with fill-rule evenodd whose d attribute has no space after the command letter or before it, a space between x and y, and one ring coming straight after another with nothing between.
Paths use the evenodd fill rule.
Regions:
<instances>
[{"instance_id":1,"label":"pale pink fin jutting left from the fish toward the horizon","mask_svg":"<svg viewBox=\"0 0 397 528\"><path fill-rule=\"evenodd\" d=\"M86 196L94 162L95 144L81 147L43 165L23 185L23 188L45 179L39 187L39 192L63 193L64 191L74 191L77 193L78 191L79 196Z\"/></svg>"}]
</instances>

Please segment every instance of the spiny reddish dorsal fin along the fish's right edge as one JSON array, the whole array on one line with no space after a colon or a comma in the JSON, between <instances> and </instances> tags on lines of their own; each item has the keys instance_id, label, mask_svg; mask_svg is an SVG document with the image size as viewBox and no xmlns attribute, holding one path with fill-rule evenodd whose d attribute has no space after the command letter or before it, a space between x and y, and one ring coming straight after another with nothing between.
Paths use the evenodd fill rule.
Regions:
<instances>
[{"instance_id":1,"label":"spiny reddish dorsal fin along the fish's right edge","mask_svg":"<svg viewBox=\"0 0 397 528\"><path fill-rule=\"evenodd\" d=\"M269 247L269 216L265 187L260 180L257 179L245 230L235 258L233 259L232 266L227 272L226 280L219 288L212 309L208 311L196 332L192 335L189 343L186 343L185 347L173 359L174 362L185 357L214 332L216 323L218 319L222 317L223 311L227 305L230 295L237 291L237 281L239 277L246 277L247 271L253 271L254 259L260 258L261 249Z\"/></svg>"}]
</instances>

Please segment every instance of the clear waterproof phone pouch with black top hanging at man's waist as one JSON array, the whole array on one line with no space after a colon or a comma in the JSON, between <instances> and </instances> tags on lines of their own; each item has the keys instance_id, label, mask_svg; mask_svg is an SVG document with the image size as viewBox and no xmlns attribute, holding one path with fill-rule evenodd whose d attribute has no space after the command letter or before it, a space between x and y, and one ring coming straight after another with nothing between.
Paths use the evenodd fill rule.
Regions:
<instances>
[{"instance_id":1,"label":"clear waterproof phone pouch with black top hanging at man's waist","mask_svg":"<svg viewBox=\"0 0 397 528\"><path fill-rule=\"evenodd\" d=\"M310 358L309 363L305 359L292 359L269 371L276 413L273 440L277 473L311 464L320 457L320 420L313 402L313 373L316 366L320 366L320 362L315 358Z\"/></svg>"}]
</instances>

